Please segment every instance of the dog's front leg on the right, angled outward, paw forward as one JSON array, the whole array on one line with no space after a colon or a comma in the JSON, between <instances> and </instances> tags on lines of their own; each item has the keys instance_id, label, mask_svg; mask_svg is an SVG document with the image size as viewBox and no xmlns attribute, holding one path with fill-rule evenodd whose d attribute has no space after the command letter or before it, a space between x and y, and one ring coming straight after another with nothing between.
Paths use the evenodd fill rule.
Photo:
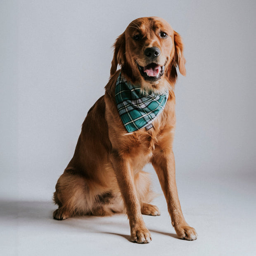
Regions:
<instances>
[{"instance_id":1,"label":"dog's front leg on the right, angled outward, paw forward","mask_svg":"<svg viewBox=\"0 0 256 256\"><path fill-rule=\"evenodd\" d=\"M186 240L197 239L197 232L186 223L181 211L175 180L175 160L173 151L156 148L152 159L152 165L158 175L166 198L172 225L175 228L178 237Z\"/></svg>"}]
</instances>

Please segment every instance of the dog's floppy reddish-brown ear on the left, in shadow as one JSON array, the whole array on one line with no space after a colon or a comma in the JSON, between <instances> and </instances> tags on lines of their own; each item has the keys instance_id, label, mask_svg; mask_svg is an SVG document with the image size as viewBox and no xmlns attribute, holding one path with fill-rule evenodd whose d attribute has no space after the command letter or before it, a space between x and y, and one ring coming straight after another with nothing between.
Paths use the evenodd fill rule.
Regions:
<instances>
[{"instance_id":1,"label":"dog's floppy reddish-brown ear on the left, in shadow","mask_svg":"<svg viewBox=\"0 0 256 256\"><path fill-rule=\"evenodd\" d=\"M125 62L126 40L123 32L114 43L114 56L111 62L110 75L113 76L116 72L117 66L123 65Z\"/></svg>"}]
</instances>

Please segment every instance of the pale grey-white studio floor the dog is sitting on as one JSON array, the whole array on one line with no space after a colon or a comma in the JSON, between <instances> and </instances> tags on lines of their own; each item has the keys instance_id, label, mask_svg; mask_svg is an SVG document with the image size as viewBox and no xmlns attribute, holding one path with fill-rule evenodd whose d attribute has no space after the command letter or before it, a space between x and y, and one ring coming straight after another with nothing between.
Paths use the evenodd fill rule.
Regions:
<instances>
[{"instance_id":1,"label":"pale grey-white studio floor the dog is sitting on","mask_svg":"<svg viewBox=\"0 0 256 256\"><path fill-rule=\"evenodd\" d=\"M179 177L180 178L180 177ZM198 239L177 238L164 196L161 216L143 216L149 244L129 241L125 215L52 219L51 201L0 201L0 255L256 255L255 176L186 177L178 183L183 213ZM159 187L156 187L159 189Z\"/></svg>"}]
</instances>

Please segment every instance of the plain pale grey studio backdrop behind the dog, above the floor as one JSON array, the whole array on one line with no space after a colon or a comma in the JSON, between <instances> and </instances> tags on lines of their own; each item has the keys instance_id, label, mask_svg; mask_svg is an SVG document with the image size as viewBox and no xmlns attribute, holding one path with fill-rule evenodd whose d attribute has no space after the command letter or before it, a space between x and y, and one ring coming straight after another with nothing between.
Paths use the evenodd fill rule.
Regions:
<instances>
[{"instance_id":1,"label":"plain pale grey studio backdrop behind the dog, above the floor","mask_svg":"<svg viewBox=\"0 0 256 256\"><path fill-rule=\"evenodd\" d=\"M254 0L0 1L0 196L51 199L87 111L104 94L111 45L144 16L163 17L184 40L177 176L252 175L255 13Z\"/></svg>"}]
</instances>

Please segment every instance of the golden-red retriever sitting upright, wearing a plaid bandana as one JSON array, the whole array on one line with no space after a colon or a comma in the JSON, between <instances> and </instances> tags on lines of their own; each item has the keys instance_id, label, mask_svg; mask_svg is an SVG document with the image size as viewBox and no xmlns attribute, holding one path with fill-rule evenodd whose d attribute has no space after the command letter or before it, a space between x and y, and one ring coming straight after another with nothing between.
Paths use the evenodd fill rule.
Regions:
<instances>
[{"instance_id":1,"label":"golden-red retriever sitting upright, wearing a plaid bandana","mask_svg":"<svg viewBox=\"0 0 256 256\"><path fill-rule=\"evenodd\" d=\"M160 215L149 204L154 193L142 171L151 163L178 238L197 239L180 208L172 149L176 69L185 76L185 62L180 35L159 17L135 19L116 39L105 94L88 111L73 158L57 181L55 219L126 213L130 240L149 243L142 214Z\"/></svg>"}]
</instances>

